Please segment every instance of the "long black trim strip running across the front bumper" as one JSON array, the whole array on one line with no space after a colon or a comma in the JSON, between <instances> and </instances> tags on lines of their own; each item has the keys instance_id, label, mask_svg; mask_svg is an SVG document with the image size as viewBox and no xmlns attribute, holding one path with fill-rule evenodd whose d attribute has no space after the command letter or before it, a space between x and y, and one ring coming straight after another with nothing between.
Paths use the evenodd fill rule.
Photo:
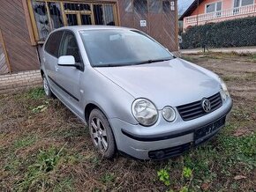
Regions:
<instances>
[{"instance_id":1,"label":"long black trim strip running across the front bumper","mask_svg":"<svg viewBox=\"0 0 256 192\"><path fill-rule=\"evenodd\" d=\"M228 112L226 114L222 115L222 117L218 118L217 120L215 120L213 122L221 120L224 116L229 114L232 106L233 106L233 102L232 102L231 107L228 110ZM203 128L203 127L205 127L208 124L211 124L213 122L209 122L206 125L201 126L200 128ZM200 129L200 128L197 128L197 129ZM191 130L187 130L187 131L184 131L184 132L181 132L181 133L177 133L177 134L171 134L171 135L168 135L168 136L158 136L158 137L147 137L147 136L145 137L145 136L133 135L132 133L129 133L129 132L125 131L124 129L122 129L122 133L124 134L124 136L130 137L130 138L132 138L134 140L137 140L137 141L153 142L153 141L161 141L161 140L171 139L171 138L175 138L175 137L182 137L184 135L187 135L187 134L190 134L190 133L194 132L194 130L195 129L191 129Z\"/></svg>"}]
</instances>

